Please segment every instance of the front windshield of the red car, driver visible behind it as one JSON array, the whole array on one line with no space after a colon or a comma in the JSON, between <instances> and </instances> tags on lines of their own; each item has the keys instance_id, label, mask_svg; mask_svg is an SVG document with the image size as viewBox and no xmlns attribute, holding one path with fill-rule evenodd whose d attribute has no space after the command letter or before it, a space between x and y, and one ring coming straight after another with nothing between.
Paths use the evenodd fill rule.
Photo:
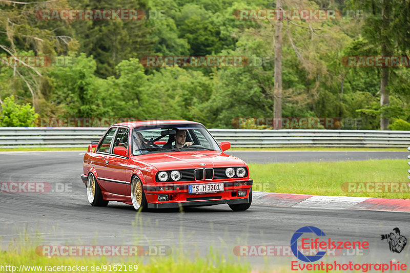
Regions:
<instances>
[{"instance_id":1,"label":"front windshield of the red car, driver visible behind it","mask_svg":"<svg viewBox=\"0 0 410 273\"><path fill-rule=\"evenodd\" d=\"M167 124L134 128L132 154L221 151L218 143L201 124Z\"/></svg>"}]
</instances>

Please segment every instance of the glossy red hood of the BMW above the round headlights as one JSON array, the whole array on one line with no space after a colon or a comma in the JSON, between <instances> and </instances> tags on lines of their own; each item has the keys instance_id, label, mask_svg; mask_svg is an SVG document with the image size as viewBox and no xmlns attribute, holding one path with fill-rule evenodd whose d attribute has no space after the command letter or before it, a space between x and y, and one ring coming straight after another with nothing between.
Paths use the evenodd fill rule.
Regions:
<instances>
[{"instance_id":1,"label":"glossy red hood of the BMW above the round headlights","mask_svg":"<svg viewBox=\"0 0 410 273\"><path fill-rule=\"evenodd\" d=\"M245 166L243 160L218 151L153 153L133 158L156 167L158 171Z\"/></svg>"}]
</instances>

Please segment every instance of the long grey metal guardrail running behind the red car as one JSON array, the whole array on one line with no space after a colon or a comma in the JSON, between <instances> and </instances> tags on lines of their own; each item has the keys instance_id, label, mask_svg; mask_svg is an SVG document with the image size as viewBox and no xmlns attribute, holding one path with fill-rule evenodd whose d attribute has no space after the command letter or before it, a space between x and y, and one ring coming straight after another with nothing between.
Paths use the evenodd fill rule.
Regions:
<instances>
[{"instance_id":1,"label":"long grey metal guardrail running behind the red car","mask_svg":"<svg viewBox=\"0 0 410 273\"><path fill-rule=\"evenodd\" d=\"M107 128L0 127L0 148L87 147ZM372 130L251 130L210 129L218 142L232 147L400 147L410 143L410 131Z\"/></svg>"}]
</instances>

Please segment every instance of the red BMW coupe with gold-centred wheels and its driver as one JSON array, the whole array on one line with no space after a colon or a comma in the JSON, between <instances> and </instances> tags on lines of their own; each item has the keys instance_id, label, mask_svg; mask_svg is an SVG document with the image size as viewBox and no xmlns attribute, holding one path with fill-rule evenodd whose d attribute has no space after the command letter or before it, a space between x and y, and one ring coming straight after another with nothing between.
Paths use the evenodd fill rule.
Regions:
<instances>
[{"instance_id":1,"label":"red BMW coupe with gold-centred wheels and its driver","mask_svg":"<svg viewBox=\"0 0 410 273\"><path fill-rule=\"evenodd\" d=\"M148 120L111 125L84 156L81 179L92 206L109 201L136 210L228 204L245 211L252 203L248 165L224 153L198 122Z\"/></svg>"}]
</instances>

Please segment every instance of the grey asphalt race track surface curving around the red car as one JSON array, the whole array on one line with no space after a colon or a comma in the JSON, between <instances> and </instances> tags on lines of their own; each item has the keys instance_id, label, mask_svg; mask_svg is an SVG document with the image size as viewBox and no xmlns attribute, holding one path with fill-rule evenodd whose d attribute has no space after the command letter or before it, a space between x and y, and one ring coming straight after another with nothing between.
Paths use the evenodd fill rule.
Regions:
<instances>
[{"instance_id":1,"label":"grey asphalt race track surface curving around the red car","mask_svg":"<svg viewBox=\"0 0 410 273\"><path fill-rule=\"evenodd\" d=\"M263 153L263 155L261 154ZM310 157L308 156L310 154ZM312 160L406 159L408 152L229 152L248 162L289 162ZM154 211L137 214L133 207L110 202L92 207L80 180L84 153L3 152L0 153L0 182L48 182L48 193L0 192L0 243L4 250L25 234L37 245L160 245L172 254L187 257L209 254L209 249L237 261L238 245L289 246L297 229L316 226L335 241L368 241L363 253L341 253L324 257L324 262L408 263L410 242L404 250L391 253L381 234L399 227L410 239L410 214L335 209L288 208L260 205L257 199L245 212L232 212L228 205ZM258 161L258 158L259 161ZM252 176L251 176L252 177ZM35 236L43 241L38 242ZM315 237L313 237L315 238ZM350 256L350 254L352 256ZM163 257L158 256L158 262ZM252 268L278 267L291 271L292 254L284 257L241 257ZM408 264L410 266L410 263Z\"/></svg>"}]
</instances>

